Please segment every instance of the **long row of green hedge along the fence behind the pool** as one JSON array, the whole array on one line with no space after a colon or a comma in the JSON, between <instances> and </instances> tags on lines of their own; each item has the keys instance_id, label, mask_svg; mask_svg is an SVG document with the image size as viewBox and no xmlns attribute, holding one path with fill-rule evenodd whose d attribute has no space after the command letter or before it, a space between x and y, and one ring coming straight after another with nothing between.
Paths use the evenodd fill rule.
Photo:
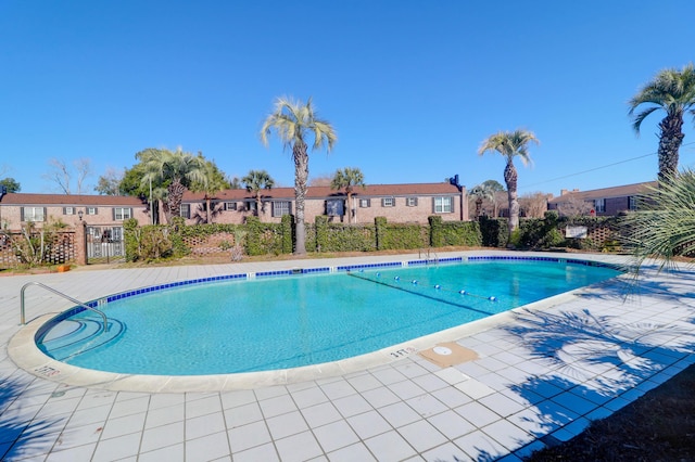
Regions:
<instances>
[{"instance_id":1,"label":"long row of green hedge along the fence behind the pool","mask_svg":"<svg viewBox=\"0 0 695 462\"><path fill-rule=\"evenodd\" d=\"M615 221L615 220L614 220ZM244 224L186 226L177 219L169 226L138 227L128 220L125 228L126 258L128 261L162 257L181 257L190 253L186 236L206 236L228 233L225 244L243 245L244 253L254 255L291 254L294 243L293 217L286 215L280 223L261 222L248 217ZM429 224L389 223L384 217L374 224L331 223L328 217L316 217L306 224L308 252L370 252L397 251L445 246L486 246L516 248L549 248L555 246L584 245L587 248L606 248L604 242L591 239L581 242L566 240L563 230L568 224L586 226L590 230L612 228L610 219L591 218L567 220L548 213L543 219L521 219L514 235L507 232L506 219L481 217L480 221L443 221L440 216L429 218ZM605 234L605 233L604 233ZM241 241L241 242L237 242Z\"/></svg>"}]
</instances>

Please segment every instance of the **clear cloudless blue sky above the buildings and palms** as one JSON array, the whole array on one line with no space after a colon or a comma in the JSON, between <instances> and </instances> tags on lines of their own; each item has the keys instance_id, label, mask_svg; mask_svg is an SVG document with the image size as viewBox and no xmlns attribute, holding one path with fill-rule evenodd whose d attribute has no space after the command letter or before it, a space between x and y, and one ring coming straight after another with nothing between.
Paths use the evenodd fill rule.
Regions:
<instances>
[{"instance_id":1,"label":"clear cloudless blue sky above the buildings and palms","mask_svg":"<svg viewBox=\"0 0 695 462\"><path fill-rule=\"evenodd\" d=\"M540 139L519 193L656 178L660 113L636 137L627 101L695 60L695 3L664 1L0 2L0 172L56 192L48 161L91 159L92 185L146 147L202 152L226 174L293 163L258 130L277 97L312 97L338 131L309 178L504 183L479 156L498 130ZM681 167L695 164L693 118ZM691 144L688 144L691 143ZM88 193L93 193L91 188Z\"/></svg>"}]
</instances>

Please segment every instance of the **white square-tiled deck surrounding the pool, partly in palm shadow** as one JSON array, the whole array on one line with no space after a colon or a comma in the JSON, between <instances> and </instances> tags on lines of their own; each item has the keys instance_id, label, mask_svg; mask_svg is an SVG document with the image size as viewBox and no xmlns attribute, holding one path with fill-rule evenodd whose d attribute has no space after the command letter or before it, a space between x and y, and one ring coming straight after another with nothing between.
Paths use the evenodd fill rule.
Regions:
<instances>
[{"instance_id":1,"label":"white square-tiled deck surrounding the pool, partly in palm shadow","mask_svg":"<svg viewBox=\"0 0 695 462\"><path fill-rule=\"evenodd\" d=\"M439 257L473 255L627 261L604 254L502 251ZM20 291L28 282L88 301L190 279L417 258L88 267L2 277L0 459L520 461L695 362L692 268L647 268L628 296L626 281L616 279L352 362L243 380L152 382L56 367L36 356L31 333L47 315L74 304L40 287L27 288L27 325L20 325ZM441 368L417 352L452 339L478 359Z\"/></svg>"}]
</instances>

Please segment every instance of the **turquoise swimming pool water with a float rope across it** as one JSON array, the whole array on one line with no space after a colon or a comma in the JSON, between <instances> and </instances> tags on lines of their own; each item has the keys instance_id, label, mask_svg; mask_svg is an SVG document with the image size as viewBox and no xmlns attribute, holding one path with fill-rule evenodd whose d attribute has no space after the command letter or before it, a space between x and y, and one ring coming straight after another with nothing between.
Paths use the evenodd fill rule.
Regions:
<instances>
[{"instance_id":1,"label":"turquoise swimming pool water with a float rope across it","mask_svg":"<svg viewBox=\"0 0 695 462\"><path fill-rule=\"evenodd\" d=\"M617 275L559 261L483 259L182 285L52 322L54 359L110 372L199 375L349 358Z\"/></svg>"}]
</instances>

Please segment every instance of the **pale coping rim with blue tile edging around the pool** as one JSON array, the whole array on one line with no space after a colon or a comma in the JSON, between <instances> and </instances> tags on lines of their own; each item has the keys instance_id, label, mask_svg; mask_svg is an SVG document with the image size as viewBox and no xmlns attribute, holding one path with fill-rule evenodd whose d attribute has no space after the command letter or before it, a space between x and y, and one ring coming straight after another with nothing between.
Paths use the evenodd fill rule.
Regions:
<instances>
[{"instance_id":1,"label":"pale coping rim with blue tile edging around the pool","mask_svg":"<svg viewBox=\"0 0 695 462\"><path fill-rule=\"evenodd\" d=\"M439 261L466 261L466 260L544 260L556 262L573 262L591 266L616 267L612 264L598 261L592 255L582 258L567 257L539 257L539 256L463 256L442 258ZM312 268L292 268L279 271L263 271L229 274L226 277L211 277L190 281L178 281L166 284L160 284L152 287L141 287L131 291L125 291L119 294L113 294L92 300L89 304L98 306L104 303L104 299L119 299L124 296L139 295L144 292L153 292L154 290L164 290L173 286L188 285L192 283L204 283L227 279L255 279L263 277L290 275L301 273L331 272L331 271L351 271L358 269L374 269L387 267L407 267L416 265L427 265L433 262L433 259L417 259L404 261L384 261L375 264L356 264L344 265L339 267L312 267ZM243 275L239 275L243 274ZM620 277L618 277L620 278ZM616 278L614 278L616 279ZM612 280L612 279L611 279ZM610 281L610 280L609 280ZM602 283L597 283L602 284ZM440 331L426 336L417 337L408 342L396 344L377 351L359 355L338 361L325 362L319 364L311 364L292 369L281 369L261 372L243 372L231 374L210 374L210 375L147 375L147 374L121 374L113 372L97 371L91 369L78 368L50 358L45 355L36 345L37 334L46 329L47 323L56 318L63 317L66 312L74 311L75 308L65 310L61 313L49 313L31 320L27 325L22 328L8 345L8 355L14 363L24 369L28 373L46 378L52 382L59 382L70 386L79 386L87 388L99 388L114 392L142 392L142 393L207 393L207 392L229 392L239 389L254 389L265 386L287 385L306 381L316 381L320 378L330 378L350 374L353 372L364 371L369 368L388 364L399 361L410 355L417 355L419 351L431 348L437 344L444 342L454 342L467 335L489 330L511 320L515 313L528 309L544 309L552 306L566 303L572 299L577 294L591 291L593 286L580 287L563 294L558 294L548 298L544 298L532 304L523 305L508 311L471 321L469 323ZM156 287L156 288L154 288ZM115 298L118 297L118 298ZM101 300L101 301L100 301ZM89 306L89 304L87 304Z\"/></svg>"}]
</instances>

